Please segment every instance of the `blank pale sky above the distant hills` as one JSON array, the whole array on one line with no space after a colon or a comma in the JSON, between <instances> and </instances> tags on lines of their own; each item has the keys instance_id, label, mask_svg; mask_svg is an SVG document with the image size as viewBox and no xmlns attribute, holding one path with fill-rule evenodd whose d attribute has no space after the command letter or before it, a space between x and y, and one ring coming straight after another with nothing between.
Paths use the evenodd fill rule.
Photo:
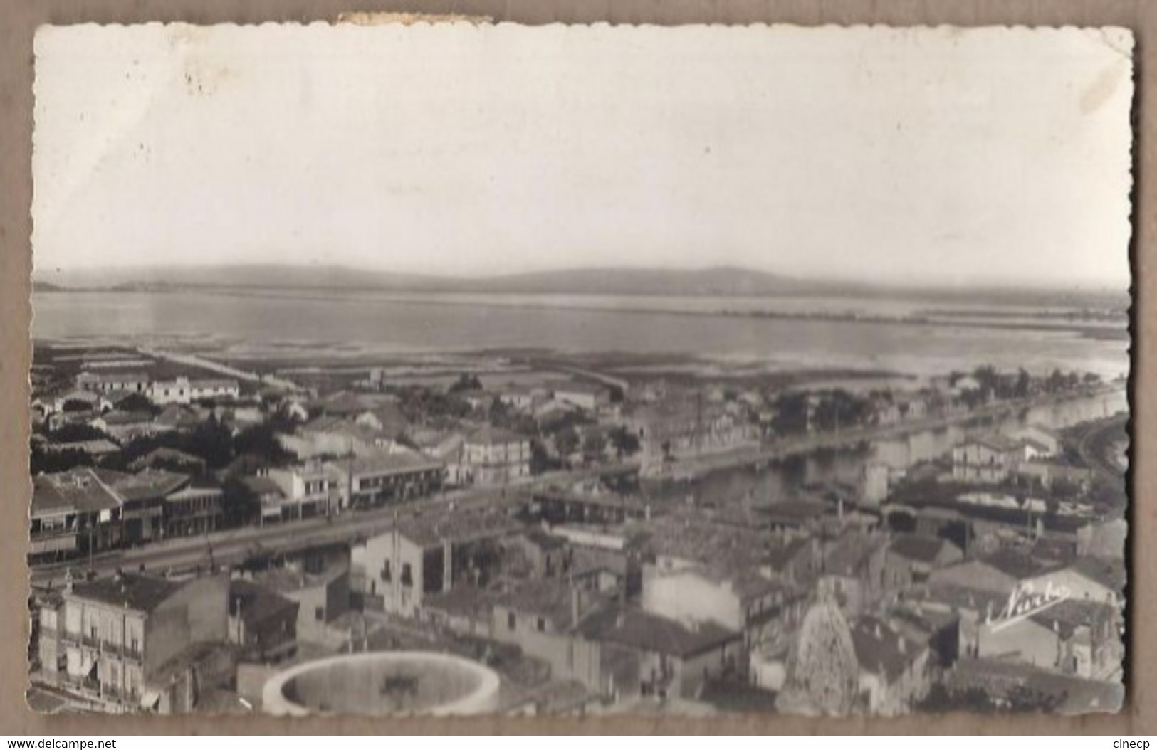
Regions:
<instances>
[{"instance_id":1,"label":"blank pale sky above the distant hills","mask_svg":"<svg viewBox=\"0 0 1157 750\"><path fill-rule=\"evenodd\" d=\"M1122 287L1132 50L1091 30L45 29L34 260Z\"/></svg>"}]
</instances>

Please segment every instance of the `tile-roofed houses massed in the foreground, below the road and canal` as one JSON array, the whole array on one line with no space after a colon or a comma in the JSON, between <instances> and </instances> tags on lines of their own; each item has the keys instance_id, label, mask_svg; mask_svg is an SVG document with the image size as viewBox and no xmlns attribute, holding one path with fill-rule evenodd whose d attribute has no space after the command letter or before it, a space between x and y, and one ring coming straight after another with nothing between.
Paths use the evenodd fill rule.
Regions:
<instances>
[{"instance_id":1,"label":"tile-roofed houses massed in the foreground, below the road and canal","mask_svg":"<svg viewBox=\"0 0 1157 750\"><path fill-rule=\"evenodd\" d=\"M237 708L286 664L395 628L426 648L493 644L539 664L509 710L677 710L720 685L808 710L801 684L828 691L804 676L832 669L813 663L817 638L846 647L824 680L854 685L847 708L865 713L992 674L978 664L1086 688L1073 695L1105 695L1120 674L1125 567L1120 549L1090 543L1103 528L978 552L820 500L740 521L606 495L410 514L258 570L69 574L36 601L36 678L106 710Z\"/></svg>"}]
</instances>

